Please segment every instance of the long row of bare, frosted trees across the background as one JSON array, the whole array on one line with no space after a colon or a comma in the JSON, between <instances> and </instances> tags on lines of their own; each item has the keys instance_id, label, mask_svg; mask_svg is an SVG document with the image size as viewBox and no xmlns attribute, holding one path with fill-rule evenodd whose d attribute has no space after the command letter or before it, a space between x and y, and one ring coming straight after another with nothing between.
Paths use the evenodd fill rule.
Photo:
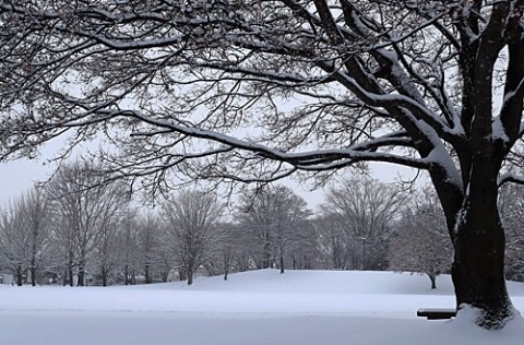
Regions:
<instances>
[{"instance_id":1,"label":"long row of bare, frosted trees across the background","mask_svg":"<svg viewBox=\"0 0 524 345\"><path fill-rule=\"evenodd\" d=\"M317 211L285 186L241 194L181 190L138 205L97 166L62 166L0 210L0 272L14 283L110 285L187 281L255 269L449 273L452 246L430 188L401 190L370 178L331 187ZM507 276L524 278L524 189L500 197Z\"/></svg>"}]
</instances>

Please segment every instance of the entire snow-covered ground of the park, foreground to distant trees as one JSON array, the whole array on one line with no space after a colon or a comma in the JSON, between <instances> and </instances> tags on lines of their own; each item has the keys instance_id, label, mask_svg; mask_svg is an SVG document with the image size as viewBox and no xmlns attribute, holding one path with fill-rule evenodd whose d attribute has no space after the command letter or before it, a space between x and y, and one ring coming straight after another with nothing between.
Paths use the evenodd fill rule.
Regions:
<instances>
[{"instance_id":1,"label":"entire snow-covered ground of the park, foreground to distant trees","mask_svg":"<svg viewBox=\"0 0 524 345\"><path fill-rule=\"evenodd\" d=\"M409 345L521 344L467 317L427 321L422 307L454 305L448 276L263 270L182 283L119 287L0 286L0 344ZM524 284L509 283L524 310Z\"/></svg>"}]
</instances>

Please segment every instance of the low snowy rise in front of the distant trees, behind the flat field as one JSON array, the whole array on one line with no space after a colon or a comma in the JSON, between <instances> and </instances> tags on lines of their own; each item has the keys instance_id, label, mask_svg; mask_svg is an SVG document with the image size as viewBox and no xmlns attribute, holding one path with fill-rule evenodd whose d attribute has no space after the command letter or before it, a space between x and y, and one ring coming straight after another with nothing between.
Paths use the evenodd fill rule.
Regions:
<instances>
[{"instance_id":1,"label":"low snowy rise in front of the distant trees, behind the flat field","mask_svg":"<svg viewBox=\"0 0 524 345\"><path fill-rule=\"evenodd\" d=\"M524 284L508 282L512 296L524 296ZM138 286L144 288L144 286ZM437 289L430 289L425 275L388 271L286 271L259 270L222 276L198 278L193 286L183 282L152 284L145 288L175 290L216 290L290 294L388 294L388 295L453 295L449 275L437 278Z\"/></svg>"}]
</instances>

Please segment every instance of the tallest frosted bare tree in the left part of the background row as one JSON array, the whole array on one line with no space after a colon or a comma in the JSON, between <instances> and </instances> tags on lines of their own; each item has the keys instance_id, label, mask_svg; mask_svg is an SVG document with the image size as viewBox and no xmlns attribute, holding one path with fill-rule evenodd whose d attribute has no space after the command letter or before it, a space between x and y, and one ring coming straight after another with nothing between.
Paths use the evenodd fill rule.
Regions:
<instances>
[{"instance_id":1,"label":"tallest frosted bare tree in the left part of the background row","mask_svg":"<svg viewBox=\"0 0 524 345\"><path fill-rule=\"evenodd\" d=\"M86 265L98 246L102 249L100 272L107 278L109 246L116 240L115 221L127 200L119 183L104 183L105 176L92 164L76 162L62 166L47 186L57 216L61 217L56 231L58 242L66 248L70 284L73 267L78 285L85 285Z\"/></svg>"}]
</instances>

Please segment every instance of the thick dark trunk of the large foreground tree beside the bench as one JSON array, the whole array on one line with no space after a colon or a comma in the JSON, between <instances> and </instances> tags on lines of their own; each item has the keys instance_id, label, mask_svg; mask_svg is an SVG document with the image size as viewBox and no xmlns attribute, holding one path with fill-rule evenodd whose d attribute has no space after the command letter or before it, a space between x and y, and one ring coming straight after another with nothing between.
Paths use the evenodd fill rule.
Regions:
<instances>
[{"instance_id":1,"label":"thick dark trunk of the large foreground tree beside the bench","mask_svg":"<svg viewBox=\"0 0 524 345\"><path fill-rule=\"evenodd\" d=\"M486 145L490 138L477 132L477 145ZM463 190L446 183L445 174L438 170L431 171L431 177L455 250L452 279L458 316L461 309L474 308L477 325L498 330L515 314L505 286L505 235L498 212L501 159L492 150L464 152Z\"/></svg>"}]
</instances>

